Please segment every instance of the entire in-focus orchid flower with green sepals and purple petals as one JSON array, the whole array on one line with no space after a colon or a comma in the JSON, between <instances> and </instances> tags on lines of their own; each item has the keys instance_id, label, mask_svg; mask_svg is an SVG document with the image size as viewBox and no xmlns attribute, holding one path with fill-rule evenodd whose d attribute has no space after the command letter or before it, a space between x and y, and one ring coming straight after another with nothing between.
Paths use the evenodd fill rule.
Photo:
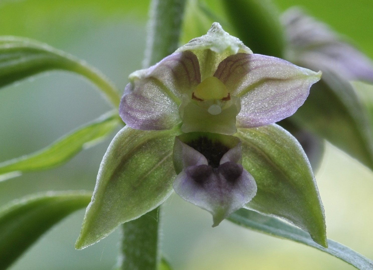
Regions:
<instances>
[{"instance_id":1,"label":"entire in-focus orchid flower with green sepals and purple petals","mask_svg":"<svg viewBox=\"0 0 373 270\"><path fill-rule=\"evenodd\" d=\"M213 226L250 207L326 245L309 162L294 137L274 124L294 114L320 76L253 54L219 23L130 74L119 106L126 127L101 163L77 246L144 215L173 190L209 211Z\"/></svg>"}]
</instances>

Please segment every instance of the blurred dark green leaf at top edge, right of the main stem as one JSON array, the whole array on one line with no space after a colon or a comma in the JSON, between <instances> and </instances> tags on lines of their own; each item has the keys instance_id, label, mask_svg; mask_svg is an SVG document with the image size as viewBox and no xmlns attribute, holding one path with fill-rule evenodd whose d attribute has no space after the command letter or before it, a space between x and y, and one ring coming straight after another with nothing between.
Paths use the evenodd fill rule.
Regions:
<instances>
[{"instance_id":1,"label":"blurred dark green leaf at top edge, right of the main stem","mask_svg":"<svg viewBox=\"0 0 373 270\"><path fill-rule=\"evenodd\" d=\"M222 0L237 37L254 53L283 58L285 35L270 0Z\"/></svg>"}]
</instances>

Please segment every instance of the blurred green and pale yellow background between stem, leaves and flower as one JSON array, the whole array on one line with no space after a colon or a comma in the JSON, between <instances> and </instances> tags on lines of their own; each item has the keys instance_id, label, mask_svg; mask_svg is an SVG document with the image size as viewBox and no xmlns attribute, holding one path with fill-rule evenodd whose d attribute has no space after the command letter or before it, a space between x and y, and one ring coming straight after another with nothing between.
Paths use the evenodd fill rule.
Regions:
<instances>
[{"instance_id":1,"label":"blurred green and pale yellow background between stem, leaves and flower","mask_svg":"<svg viewBox=\"0 0 373 270\"><path fill-rule=\"evenodd\" d=\"M190 2L190 7L196 5ZM275 3L280 10L303 6L373 58L372 0ZM148 5L149 1L138 0L0 0L0 35L26 36L67 51L124 89L128 74L141 68ZM188 12L190 15L193 8ZM188 25L185 27L187 35L192 35ZM208 25L200 25L200 31L207 29ZM66 72L50 72L0 89L0 162L47 146L109 109L93 86ZM110 140L79 153L59 168L0 182L0 205L40 191L93 190ZM373 173L327 144L316 179L328 237L373 258ZM209 213L176 194L165 206L162 252L175 270L354 269L318 250L228 221L211 228ZM81 210L63 220L10 269L112 269L118 231L85 250L74 249L83 215Z\"/></svg>"}]
</instances>

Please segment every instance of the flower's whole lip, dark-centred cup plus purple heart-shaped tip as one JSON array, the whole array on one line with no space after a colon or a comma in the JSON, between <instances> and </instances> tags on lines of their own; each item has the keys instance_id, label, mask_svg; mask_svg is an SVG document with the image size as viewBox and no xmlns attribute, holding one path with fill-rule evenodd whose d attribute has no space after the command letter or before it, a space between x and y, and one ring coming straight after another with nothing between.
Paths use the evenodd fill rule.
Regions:
<instances>
[{"instance_id":1,"label":"flower's whole lip, dark-centred cup plus purple heart-shaped tip","mask_svg":"<svg viewBox=\"0 0 373 270\"><path fill-rule=\"evenodd\" d=\"M213 226L255 196L257 185L241 165L237 137L192 132L175 138L173 188L184 200L213 215Z\"/></svg>"}]
</instances>

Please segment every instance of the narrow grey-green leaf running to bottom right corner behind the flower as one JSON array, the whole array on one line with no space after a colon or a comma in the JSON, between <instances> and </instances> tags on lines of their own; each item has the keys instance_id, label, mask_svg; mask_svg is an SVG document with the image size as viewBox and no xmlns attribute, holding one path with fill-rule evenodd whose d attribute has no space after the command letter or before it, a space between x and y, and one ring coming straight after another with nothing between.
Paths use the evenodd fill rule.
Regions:
<instances>
[{"instance_id":1,"label":"narrow grey-green leaf running to bottom right corner behind the flower","mask_svg":"<svg viewBox=\"0 0 373 270\"><path fill-rule=\"evenodd\" d=\"M292 225L289 225L275 217L262 215L258 212L240 209L228 217L230 221L239 226L252 229L254 231L263 232L279 238L285 238L317 248L334 257L340 258L346 263L355 266L360 270L373 269L373 261L364 257L363 255L351 250L350 248L339 244L333 240L327 239L328 248L324 248L312 241L310 236Z\"/></svg>"}]
</instances>

